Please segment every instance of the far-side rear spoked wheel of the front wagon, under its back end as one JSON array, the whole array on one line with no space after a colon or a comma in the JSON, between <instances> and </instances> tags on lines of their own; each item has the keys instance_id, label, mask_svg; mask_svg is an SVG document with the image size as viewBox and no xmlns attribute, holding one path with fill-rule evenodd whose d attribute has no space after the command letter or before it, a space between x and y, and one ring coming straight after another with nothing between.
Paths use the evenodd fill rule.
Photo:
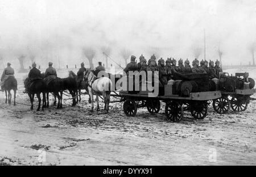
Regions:
<instances>
[{"instance_id":1,"label":"far-side rear spoked wheel of the front wagon, under its back end","mask_svg":"<svg viewBox=\"0 0 256 177\"><path fill-rule=\"evenodd\" d=\"M204 119L207 116L208 105L207 102L195 102L190 104L189 109L195 119Z\"/></svg>"}]
</instances>

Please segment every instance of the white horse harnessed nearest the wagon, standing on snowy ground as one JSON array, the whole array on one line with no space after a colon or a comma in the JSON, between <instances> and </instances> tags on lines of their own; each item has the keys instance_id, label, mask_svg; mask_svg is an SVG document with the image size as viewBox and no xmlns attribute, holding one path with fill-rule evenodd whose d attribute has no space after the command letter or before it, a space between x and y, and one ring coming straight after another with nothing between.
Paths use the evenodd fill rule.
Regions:
<instances>
[{"instance_id":1,"label":"white horse harnessed nearest the wagon, standing on snowy ground","mask_svg":"<svg viewBox=\"0 0 256 177\"><path fill-rule=\"evenodd\" d=\"M97 101L97 111L100 111L100 106L98 105L98 97L102 95L105 102L105 113L109 112L109 102L110 102L110 92L112 88L112 82L108 77L97 78L96 75L93 74L92 70L88 69L84 74L84 81L88 81L88 91L91 102L90 111L93 112L93 93L96 94Z\"/></svg>"}]
</instances>

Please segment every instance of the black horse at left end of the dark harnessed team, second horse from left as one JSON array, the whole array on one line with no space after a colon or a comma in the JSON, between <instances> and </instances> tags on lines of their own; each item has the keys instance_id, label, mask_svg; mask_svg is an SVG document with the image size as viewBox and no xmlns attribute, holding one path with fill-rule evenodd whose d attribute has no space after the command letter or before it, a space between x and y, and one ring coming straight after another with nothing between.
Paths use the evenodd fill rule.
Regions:
<instances>
[{"instance_id":1,"label":"black horse at left end of the dark harnessed team, second horse from left","mask_svg":"<svg viewBox=\"0 0 256 177\"><path fill-rule=\"evenodd\" d=\"M26 83L29 81L28 79L30 78L26 78L24 80L24 86L26 87ZM46 82L43 81L43 79L38 79L38 80L35 80L33 81L30 86L28 86L26 88L27 90L27 94L30 98L30 103L31 103L31 107L30 109L33 110L34 108L34 97L35 97L35 94L38 98L38 109L36 109L36 111L40 111L40 107L41 107L41 97L40 97L40 94L43 93L43 105L44 103L46 102L46 96L45 96L45 92L46 92ZM44 110L44 106L42 106L42 111Z\"/></svg>"}]
</instances>

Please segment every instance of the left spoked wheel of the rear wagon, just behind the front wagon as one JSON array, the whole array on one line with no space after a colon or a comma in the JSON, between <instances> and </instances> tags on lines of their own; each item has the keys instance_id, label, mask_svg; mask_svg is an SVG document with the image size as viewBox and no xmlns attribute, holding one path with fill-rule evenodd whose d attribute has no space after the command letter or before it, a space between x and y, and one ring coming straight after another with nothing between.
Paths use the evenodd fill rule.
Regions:
<instances>
[{"instance_id":1,"label":"left spoked wheel of the rear wagon, just behind the front wagon","mask_svg":"<svg viewBox=\"0 0 256 177\"><path fill-rule=\"evenodd\" d=\"M214 99L212 106L214 111L220 114L224 114L230 110L230 101L226 97Z\"/></svg>"}]
</instances>

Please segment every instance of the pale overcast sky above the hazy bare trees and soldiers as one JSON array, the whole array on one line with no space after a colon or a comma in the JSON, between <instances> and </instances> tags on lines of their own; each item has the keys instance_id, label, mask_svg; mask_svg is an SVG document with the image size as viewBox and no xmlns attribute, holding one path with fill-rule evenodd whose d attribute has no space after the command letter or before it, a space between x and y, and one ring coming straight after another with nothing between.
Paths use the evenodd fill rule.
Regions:
<instances>
[{"instance_id":1,"label":"pale overcast sky above the hazy bare trees and soldiers","mask_svg":"<svg viewBox=\"0 0 256 177\"><path fill-rule=\"evenodd\" d=\"M38 62L51 57L60 57L63 64L70 64L71 58L86 62L81 51L90 46L97 50L97 62L104 58L102 45L112 48L111 56L120 63L121 48L137 58L143 53L148 59L148 49L159 48L164 59L192 61L195 48L204 47L204 29L207 60L216 60L220 47L224 65L249 64L248 48L256 41L256 1L0 1L0 52L5 61L34 50Z\"/></svg>"}]
</instances>

